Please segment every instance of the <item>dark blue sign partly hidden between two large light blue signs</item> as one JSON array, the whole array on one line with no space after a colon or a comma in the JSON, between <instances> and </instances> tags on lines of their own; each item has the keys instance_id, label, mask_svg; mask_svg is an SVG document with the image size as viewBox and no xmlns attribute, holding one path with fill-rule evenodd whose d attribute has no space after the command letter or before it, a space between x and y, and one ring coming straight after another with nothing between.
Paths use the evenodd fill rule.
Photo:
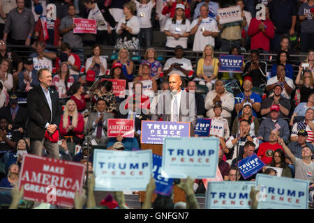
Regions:
<instances>
[{"instance_id":1,"label":"dark blue sign partly hidden between two large light blue signs","mask_svg":"<svg viewBox=\"0 0 314 223\"><path fill-rule=\"evenodd\" d=\"M156 183L156 194L169 196L172 192L173 178L165 178L161 175L161 159L160 155L153 154L153 174Z\"/></svg>"}]
</instances>

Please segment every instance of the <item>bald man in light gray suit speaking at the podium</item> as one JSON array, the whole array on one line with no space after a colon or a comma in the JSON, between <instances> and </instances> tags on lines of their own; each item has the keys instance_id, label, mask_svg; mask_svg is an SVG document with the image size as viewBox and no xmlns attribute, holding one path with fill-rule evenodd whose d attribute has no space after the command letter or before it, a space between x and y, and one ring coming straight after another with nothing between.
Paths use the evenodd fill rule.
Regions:
<instances>
[{"instance_id":1,"label":"bald man in light gray suit speaking at the podium","mask_svg":"<svg viewBox=\"0 0 314 223\"><path fill-rule=\"evenodd\" d=\"M170 92L160 95L156 106L156 114L151 116L151 120L157 121L179 121L190 123L190 135L194 136L196 116L195 97L192 93L181 90L181 77L172 74L169 77Z\"/></svg>"}]
</instances>

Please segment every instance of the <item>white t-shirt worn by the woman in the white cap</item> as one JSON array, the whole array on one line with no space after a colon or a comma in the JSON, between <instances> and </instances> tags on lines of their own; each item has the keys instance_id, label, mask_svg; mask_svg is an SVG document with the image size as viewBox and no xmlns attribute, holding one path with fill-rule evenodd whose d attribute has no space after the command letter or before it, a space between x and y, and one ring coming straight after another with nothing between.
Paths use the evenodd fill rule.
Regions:
<instances>
[{"instance_id":1,"label":"white t-shirt worn by the woman in the white cap","mask_svg":"<svg viewBox=\"0 0 314 223\"><path fill-rule=\"evenodd\" d=\"M168 19L165 24L165 31L170 31L170 33L174 34L184 34L190 32L190 21L186 19L186 24L181 24L182 20L177 20L175 24L172 23L172 18ZM188 38L180 37L176 40L173 36L167 36L167 47L177 47L177 45L181 45L186 49L188 47Z\"/></svg>"}]
</instances>

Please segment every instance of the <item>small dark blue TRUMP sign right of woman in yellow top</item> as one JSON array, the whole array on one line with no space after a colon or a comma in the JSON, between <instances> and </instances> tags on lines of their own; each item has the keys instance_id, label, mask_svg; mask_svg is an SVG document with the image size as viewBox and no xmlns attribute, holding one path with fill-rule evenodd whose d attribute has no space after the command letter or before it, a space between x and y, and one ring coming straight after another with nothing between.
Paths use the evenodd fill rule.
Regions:
<instances>
[{"instance_id":1,"label":"small dark blue TRUMP sign right of woman in yellow top","mask_svg":"<svg viewBox=\"0 0 314 223\"><path fill-rule=\"evenodd\" d=\"M219 72L242 72L243 56L240 55L220 55Z\"/></svg>"}]
</instances>

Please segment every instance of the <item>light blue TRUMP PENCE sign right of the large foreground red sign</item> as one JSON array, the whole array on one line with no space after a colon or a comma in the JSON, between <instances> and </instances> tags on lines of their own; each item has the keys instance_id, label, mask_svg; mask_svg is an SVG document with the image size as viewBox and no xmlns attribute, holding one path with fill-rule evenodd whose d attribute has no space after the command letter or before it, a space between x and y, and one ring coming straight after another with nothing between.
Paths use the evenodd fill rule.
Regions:
<instances>
[{"instance_id":1,"label":"light blue TRUMP PENCE sign right of the large foreground red sign","mask_svg":"<svg viewBox=\"0 0 314 223\"><path fill-rule=\"evenodd\" d=\"M151 150L107 151L95 149L95 190L146 190L152 168Z\"/></svg>"}]
</instances>

